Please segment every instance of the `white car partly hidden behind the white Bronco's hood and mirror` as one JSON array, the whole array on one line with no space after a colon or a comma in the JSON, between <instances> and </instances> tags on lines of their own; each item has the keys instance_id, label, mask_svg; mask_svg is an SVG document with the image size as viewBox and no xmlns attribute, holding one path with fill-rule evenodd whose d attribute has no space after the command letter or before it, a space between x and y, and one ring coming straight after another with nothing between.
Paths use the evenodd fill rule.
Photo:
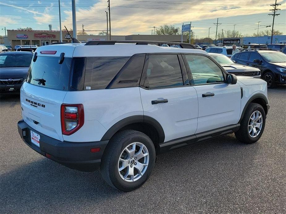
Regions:
<instances>
[{"instance_id":1,"label":"white car partly hidden behind the white Bronco's hood and mirror","mask_svg":"<svg viewBox=\"0 0 286 214\"><path fill-rule=\"evenodd\" d=\"M252 76L260 78L260 70L246 65L234 63L231 59L223 54L209 53L224 69L237 76Z\"/></svg>"}]
</instances>

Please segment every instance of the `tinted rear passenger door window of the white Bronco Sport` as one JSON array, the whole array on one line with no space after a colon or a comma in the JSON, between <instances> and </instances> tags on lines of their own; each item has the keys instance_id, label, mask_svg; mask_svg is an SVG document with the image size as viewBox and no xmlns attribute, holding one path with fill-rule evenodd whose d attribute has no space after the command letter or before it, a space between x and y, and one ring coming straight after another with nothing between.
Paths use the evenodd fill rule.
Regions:
<instances>
[{"instance_id":1,"label":"tinted rear passenger door window of the white Bronco Sport","mask_svg":"<svg viewBox=\"0 0 286 214\"><path fill-rule=\"evenodd\" d=\"M177 55L149 55L144 86L151 89L182 86Z\"/></svg>"}]
</instances>

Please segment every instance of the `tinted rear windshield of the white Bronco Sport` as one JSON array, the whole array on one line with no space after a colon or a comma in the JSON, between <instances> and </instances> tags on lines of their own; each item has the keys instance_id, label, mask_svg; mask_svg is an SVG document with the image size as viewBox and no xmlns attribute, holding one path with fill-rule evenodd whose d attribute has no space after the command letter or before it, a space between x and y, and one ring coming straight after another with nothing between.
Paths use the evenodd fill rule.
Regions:
<instances>
[{"instance_id":1,"label":"tinted rear windshield of the white Bronco Sport","mask_svg":"<svg viewBox=\"0 0 286 214\"><path fill-rule=\"evenodd\" d=\"M41 87L68 91L72 58L65 57L62 64L58 61L59 57L38 56L36 62L31 63L27 82Z\"/></svg>"}]
</instances>

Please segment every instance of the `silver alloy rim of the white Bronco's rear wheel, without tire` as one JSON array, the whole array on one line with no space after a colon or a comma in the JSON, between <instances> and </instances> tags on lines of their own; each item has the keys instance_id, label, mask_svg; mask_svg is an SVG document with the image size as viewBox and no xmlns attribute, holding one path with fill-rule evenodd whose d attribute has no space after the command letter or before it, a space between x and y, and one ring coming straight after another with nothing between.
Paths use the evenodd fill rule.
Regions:
<instances>
[{"instance_id":1,"label":"silver alloy rim of the white Bronco's rear wheel, without tire","mask_svg":"<svg viewBox=\"0 0 286 214\"><path fill-rule=\"evenodd\" d=\"M139 142L130 143L122 151L118 160L118 173L127 182L140 179L147 170L149 153L147 147Z\"/></svg>"}]
</instances>

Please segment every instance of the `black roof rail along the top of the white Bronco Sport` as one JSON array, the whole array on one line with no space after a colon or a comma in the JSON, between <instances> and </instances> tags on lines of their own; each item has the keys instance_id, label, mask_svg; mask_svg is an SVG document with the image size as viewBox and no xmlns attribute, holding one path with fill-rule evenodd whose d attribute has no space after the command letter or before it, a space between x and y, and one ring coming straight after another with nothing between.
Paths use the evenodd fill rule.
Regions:
<instances>
[{"instance_id":1,"label":"black roof rail along the top of the white Bronco Sport","mask_svg":"<svg viewBox=\"0 0 286 214\"><path fill-rule=\"evenodd\" d=\"M135 41L135 40L110 40L110 41L89 41L85 45L114 45L115 43L136 43L136 45L147 44L175 44L180 45L181 48L197 49L193 44L181 42L162 42L162 41Z\"/></svg>"}]
</instances>

